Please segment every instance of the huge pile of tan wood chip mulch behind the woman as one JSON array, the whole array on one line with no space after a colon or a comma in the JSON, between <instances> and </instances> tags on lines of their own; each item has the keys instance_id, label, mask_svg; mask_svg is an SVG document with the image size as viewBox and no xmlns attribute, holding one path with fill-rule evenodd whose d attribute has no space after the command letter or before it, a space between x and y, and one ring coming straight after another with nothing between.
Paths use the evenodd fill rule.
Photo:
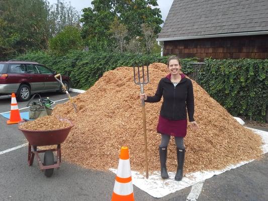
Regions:
<instances>
[{"instance_id":1,"label":"huge pile of tan wood chip mulch behind the woman","mask_svg":"<svg viewBox=\"0 0 268 201\"><path fill-rule=\"evenodd\" d=\"M144 91L153 95L158 81L167 74L166 65L149 66L150 83ZM195 120L200 130L188 129L185 138L185 172L222 169L243 160L260 158L261 139L243 128L195 81ZM130 150L131 169L145 171L140 87L134 84L133 68L118 67L104 73L94 86L74 98L78 113L67 102L57 105L52 115L74 124L62 144L65 160L85 168L117 168L121 146ZM149 171L159 170L156 133L161 102L146 103ZM174 139L168 146L168 171L176 170Z\"/></svg>"}]
</instances>

